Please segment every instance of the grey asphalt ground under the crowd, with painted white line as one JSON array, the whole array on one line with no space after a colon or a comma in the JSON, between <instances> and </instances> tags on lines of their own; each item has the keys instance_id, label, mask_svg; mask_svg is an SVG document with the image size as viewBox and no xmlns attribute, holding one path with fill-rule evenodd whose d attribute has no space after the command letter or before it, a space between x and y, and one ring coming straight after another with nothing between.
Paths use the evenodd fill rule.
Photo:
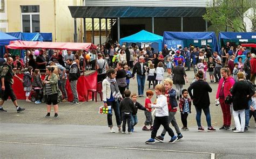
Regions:
<instances>
[{"instance_id":1,"label":"grey asphalt ground under the crowd, with painted white line","mask_svg":"<svg viewBox=\"0 0 256 159\"><path fill-rule=\"evenodd\" d=\"M188 88L193 79L192 71L188 71L187 75L189 83L184 88ZM170 140L167 135L164 143L145 144L150 132L142 131L145 121L143 111L138 111L138 125L135 132L129 135L109 133L106 115L98 113L102 102L60 103L59 118L55 119L44 118L45 103L36 105L18 100L18 104L26 110L17 113L8 100L3 106L8 112L0 113L0 158L254 158L254 120L250 121L249 132L219 131L223 116L220 106L214 105L218 84L210 85L213 89L210 93L212 126L217 128L217 132L197 132L196 110L192 106L192 113L188 115L190 131L181 132L184 141L173 144L167 143ZM147 86L146 81L144 91ZM130 90L137 93L136 79L131 79ZM143 105L144 100L145 97L138 98ZM176 119L181 127L179 112ZM204 114L201 122L207 127ZM114 118L113 124L117 130Z\"/></svg>"}]
</instances>

